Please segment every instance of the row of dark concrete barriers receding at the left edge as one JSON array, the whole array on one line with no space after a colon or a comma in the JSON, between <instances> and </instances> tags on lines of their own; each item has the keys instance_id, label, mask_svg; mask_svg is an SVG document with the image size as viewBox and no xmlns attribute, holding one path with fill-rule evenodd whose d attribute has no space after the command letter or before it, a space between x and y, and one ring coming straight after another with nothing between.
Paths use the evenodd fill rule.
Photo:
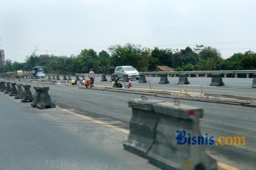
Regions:
<instances>
[{"instance_id":1,"label":"row of dark concrete barriers receding at the left edge","mask_svg":"<svg viewBox=\"0 0 256 170\"><path fill-rule=\"evenodd\" d=\"M18 90L16 88L18 87ZM24 88L24 90L23 90ZM32 102L32 107L38 109L47 109L55 107L48 94L49 87L35 86L35 94L32 95L30 91L30 85L16 84L14 82L0 81L0 91L9 96L14 96L15 99L21 99L22 103Z\"/></svg>"}]
</instances>

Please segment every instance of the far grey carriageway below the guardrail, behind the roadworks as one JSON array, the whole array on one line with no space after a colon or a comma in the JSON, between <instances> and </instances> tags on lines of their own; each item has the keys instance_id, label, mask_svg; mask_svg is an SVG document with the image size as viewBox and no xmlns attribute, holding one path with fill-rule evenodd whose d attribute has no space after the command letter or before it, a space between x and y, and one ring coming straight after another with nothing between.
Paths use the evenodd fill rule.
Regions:
<instances>
[{"instance_id":1,"label":"far grey carriageway below the guardrail, behind the roadworks","mask_svg":"<svg viewBox=\"0 0 256 170\"><path fill-rule=\"evenodd\" d=\"M204 92L224 95L238 95L256 97L256 89L252 88L252 80L247 78L223 78L225 86L213 87L209 86L211 78L188 78L190 84L177 85L179 78L168 78L169 84L159 84L160 78L146 78L148 83L137 83L132 80L134 88L149 89L149 81L152 89L180 91L187 89L188 92ZM108 78L110 80L110 78ZM96 85L109 86L109 82L100 82L100 78L96 78Z\"/></svg>"}]
</instances>

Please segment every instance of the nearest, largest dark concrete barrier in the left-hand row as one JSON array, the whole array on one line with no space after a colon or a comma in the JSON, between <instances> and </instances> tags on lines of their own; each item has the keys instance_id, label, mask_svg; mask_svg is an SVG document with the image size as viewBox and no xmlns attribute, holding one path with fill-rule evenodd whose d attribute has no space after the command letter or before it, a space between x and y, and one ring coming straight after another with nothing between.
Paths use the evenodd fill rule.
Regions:
<instances>
[{"instance_id":1,"label":"nearest, largest dark concrete barrier in the left-hand row","mask_svg":"<svg viewBox=\"0 0 256 170\"><path fill-rule=\"evenodd\" d=\"M48 94L49 87L34 87L35 95L34 100L31 103L32 107L38 107L38 109L47 109L56 107L55 104L52 103L52 100Z\"/></svg>"}]
</instances>

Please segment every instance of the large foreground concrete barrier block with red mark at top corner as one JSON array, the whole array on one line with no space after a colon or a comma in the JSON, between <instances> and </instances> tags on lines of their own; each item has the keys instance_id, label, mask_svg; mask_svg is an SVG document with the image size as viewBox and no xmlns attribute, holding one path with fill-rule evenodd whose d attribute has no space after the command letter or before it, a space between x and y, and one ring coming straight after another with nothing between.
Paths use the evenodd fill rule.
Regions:
<instances>
[{"instance_id":1,"label":"large foreground concrete barrier block with red mark at top corner","mask_svg":"<svg viewBox=\"0 0 256 170\"><path fill-rule=\"evenodd\" d=\"M179 133L182 142L184 132L186 137L202 136L199 127L202 109L170 102L156 103L153 107L159 120L154 144L147 154L151 164L163 169L217 169L216 160L206 153L206 141L192 145L187 140L184 145L177 144Z\"/></svg>"}]
</instances>

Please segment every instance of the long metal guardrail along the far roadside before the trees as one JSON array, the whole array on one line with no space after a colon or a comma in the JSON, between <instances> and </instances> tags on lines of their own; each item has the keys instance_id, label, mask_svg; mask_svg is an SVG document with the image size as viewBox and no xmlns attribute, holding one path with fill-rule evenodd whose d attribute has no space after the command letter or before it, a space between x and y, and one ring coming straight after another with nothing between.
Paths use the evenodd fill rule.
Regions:
<instances>
[{"instance_id":1,"label":"long metal guardrail along the far roadside before the trees","mask_svg":"<svg viewBox=\"0 0 256 170\"><path fill-rule=\"evenodd\" d=\"M140 74L236 74L256 73L256 70L228 70L228 71L185 71L185 72L140 72Z\"/></svg>"}]
</instances>

